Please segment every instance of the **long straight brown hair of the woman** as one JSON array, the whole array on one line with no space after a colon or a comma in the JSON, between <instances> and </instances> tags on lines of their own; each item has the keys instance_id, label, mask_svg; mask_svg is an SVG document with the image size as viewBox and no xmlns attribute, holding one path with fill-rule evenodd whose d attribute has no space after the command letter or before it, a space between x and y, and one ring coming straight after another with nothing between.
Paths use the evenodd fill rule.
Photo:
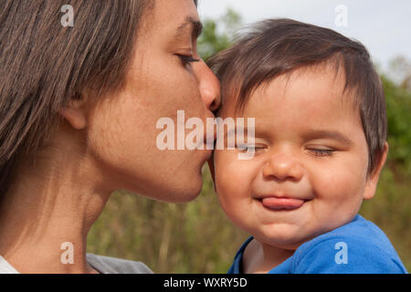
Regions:
<instances>
[{"instance_id":1,"label":"long straight brown hair of the woman","mask_svg":"<svg viewBox=\"0 0 411 292\"><path fill-rule=\"evenodd\" d=\"M0 193L85 87L121 89L148 0L2 0ZM73 26L62 18L73 8ZM63 19L64 20L64 19Z\"/></svg>"}]
</instances>

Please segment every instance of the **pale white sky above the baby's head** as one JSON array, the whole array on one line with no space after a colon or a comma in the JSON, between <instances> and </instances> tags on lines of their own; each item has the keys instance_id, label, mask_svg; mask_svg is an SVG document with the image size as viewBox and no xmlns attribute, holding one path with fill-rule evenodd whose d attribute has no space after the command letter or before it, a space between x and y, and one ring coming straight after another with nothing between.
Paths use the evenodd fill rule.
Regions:
<instances>
[{"instance_id":1,"label":"pale white sky above the baby's head","mask_svg":"<svg viewBox=\"0 0 411 292\"><path fill-rule=\"evenodd\" d=\"M202 19L234 9L250 24L288 17L359 40L382 70L397 56L411 60L411 0L199 0Z\"/></svg>"}]
</instances>

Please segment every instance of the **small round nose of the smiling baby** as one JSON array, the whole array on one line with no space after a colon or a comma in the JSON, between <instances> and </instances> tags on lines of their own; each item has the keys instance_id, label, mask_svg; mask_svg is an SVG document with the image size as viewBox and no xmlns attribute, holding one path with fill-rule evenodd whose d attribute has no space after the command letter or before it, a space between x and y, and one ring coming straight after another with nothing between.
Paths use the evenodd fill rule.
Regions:
<instances>
[{"instance_id":1,"label":"small round nose of the smiling baby","mask_svg":"<svg viewBox=\"0 0 411 292\"><path fill-rule=\"evenodd\" d=\"M264 165L263 176L278 181L298 182L303 176L303 171L300 163L292 157L291 153L277 153L270 156L269 161Z\"/></svg>"}]
</instances>

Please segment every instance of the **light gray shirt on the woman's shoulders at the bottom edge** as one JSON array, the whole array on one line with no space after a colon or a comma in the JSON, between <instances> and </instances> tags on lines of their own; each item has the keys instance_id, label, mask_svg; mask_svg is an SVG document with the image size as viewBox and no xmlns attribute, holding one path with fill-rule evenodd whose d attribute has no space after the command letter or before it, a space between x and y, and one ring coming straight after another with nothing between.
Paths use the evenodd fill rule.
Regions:
<instances>
[{"instance_id":1,"label":"light gray shirt on the woman's shoulders at the bottom edge","mask_svg":"<svg viewBox=\"0 0 411 292\"><path fill-rule=\"evenodd\" d=\"M142 264L126 259L87 254L87 262L101 274L153 274L153 271ZM20 274L0 255L0 274Z\"/></svg>"}]
</instances>

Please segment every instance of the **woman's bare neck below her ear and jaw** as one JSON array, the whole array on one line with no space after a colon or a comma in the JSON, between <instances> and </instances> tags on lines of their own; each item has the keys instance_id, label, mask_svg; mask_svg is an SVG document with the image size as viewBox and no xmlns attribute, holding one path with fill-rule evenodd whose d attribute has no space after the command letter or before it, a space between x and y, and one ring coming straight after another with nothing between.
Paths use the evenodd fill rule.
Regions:
<instances>
[{"instance_id":1,"label":"woman's bare neck below her ear and jaw","mask_svg":"<svg viewBox=\"0 0 411 292\"><path fill-rule=\"evenodd\" d=\"M110 192L98 187L87 155L69 142L62 147L21 164L1 198L0 255L21 273L95 272L86 261L87 235Z\"/></svg>"}]
</instances>

